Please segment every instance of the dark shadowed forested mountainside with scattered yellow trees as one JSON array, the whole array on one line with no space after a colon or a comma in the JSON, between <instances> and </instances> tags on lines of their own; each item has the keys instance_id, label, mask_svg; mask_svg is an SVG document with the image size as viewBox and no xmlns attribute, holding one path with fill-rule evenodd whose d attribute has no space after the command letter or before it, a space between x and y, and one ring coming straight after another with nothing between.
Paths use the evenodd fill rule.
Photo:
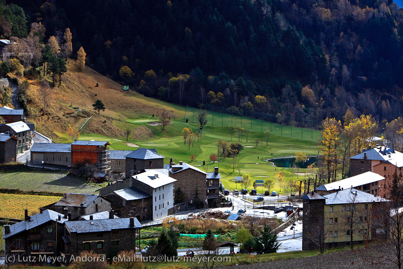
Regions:
<instances>
[{"instance_id":1,"label":"dark shadowed forested mountainside with scattered yellow trees","mask_svg":"<svg viewBox=\"0 0 403 269\"><path fill-rule=\"evenodd\" d=\"M8 2L25 15L3 4L2 37L40 23L43 42L62 43L69 27L87 65L147 96L308 127L401 114L403 11L391 1Z\"/></svg>"}]
</instances>

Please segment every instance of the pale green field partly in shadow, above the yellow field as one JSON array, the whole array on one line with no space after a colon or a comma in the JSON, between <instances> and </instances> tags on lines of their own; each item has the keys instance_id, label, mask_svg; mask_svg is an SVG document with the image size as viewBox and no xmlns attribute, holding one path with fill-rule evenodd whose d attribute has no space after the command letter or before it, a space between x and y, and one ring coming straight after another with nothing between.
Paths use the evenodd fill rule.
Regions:
<instances>
[{"instance_id":1,"label":"pale green field partly in shadow, above the yellow field","mask_svg":"<svg viewBox=\"0 0 403 269\"><path fill-rule=\"evenodd\" d=\"M100 185L68 175L67 172L27 171L0 174L0 189L54 193L96 193Z\"/></svg>"}]
</instances>

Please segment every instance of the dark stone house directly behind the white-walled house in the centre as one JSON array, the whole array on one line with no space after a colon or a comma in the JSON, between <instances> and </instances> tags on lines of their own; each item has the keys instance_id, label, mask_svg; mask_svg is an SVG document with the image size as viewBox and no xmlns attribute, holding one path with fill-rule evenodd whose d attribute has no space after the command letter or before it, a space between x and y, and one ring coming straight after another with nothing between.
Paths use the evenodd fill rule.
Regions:
<instances>
[{"instance_id":1,"label":"dark stone house directly behind the white-walled house in the centre","mask_svg":"<svg viewBox=\"0 0 403 269\"><path fill-rule=\"evenodd\" d=\"M180 188L180 191L185 195L186 202L190 203L191 201L191 204L194 202L198 203L199 207L206 207L209 200L212 199L209 205L215 205L215 201L219 196L218 188L216 189L216 186L214 186L211 193L207 192L207 173L184 162L179 162L177 165L170 163L165 165L164 168L169 171L169 177L177 180L175 190ZM217 193L214 193L214 191Z\"/></svg>"}]
</instances>

